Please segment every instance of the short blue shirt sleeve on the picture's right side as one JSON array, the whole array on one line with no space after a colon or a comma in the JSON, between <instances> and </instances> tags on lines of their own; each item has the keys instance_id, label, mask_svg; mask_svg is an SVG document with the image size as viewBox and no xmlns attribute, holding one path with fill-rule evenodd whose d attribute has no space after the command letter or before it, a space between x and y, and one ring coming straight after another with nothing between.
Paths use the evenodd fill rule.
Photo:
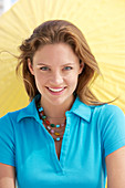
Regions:
<instances>
[{"instance_id":1,"label":"short blue shirt sleeve on the picture's right side","mask_svg":"<svg viewBox=\"0 0 125 188\"><path fill-rule=\"evenodd\" d=\"M100 116L104 156L125 146L125 115L115 105L105 105Z\"/></svg>"}]
</instances>

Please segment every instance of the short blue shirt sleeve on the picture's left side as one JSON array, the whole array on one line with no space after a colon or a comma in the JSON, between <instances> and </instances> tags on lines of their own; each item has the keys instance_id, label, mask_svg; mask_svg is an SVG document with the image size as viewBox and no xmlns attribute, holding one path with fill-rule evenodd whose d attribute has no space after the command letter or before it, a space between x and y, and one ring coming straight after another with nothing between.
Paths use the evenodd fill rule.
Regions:
<instances>
[{"instance_id":1,"label":"short blue shirt sleeve on the picture's left side","mask_svg":"<svg viewBox=\"0 0 125 188\"><path fill-rule=\"evenodd\" d=\"M9 114L0 118L0 163L15 166L14 132Z\"/></svg>"}]
</instances>

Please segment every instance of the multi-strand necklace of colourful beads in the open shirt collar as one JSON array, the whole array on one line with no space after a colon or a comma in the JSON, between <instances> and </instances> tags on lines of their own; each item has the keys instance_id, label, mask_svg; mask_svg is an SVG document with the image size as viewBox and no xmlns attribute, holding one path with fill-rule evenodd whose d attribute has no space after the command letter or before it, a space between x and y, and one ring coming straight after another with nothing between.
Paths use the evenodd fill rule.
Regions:
<instances>
[{"instance_id":1,"label":"multi-strand necklace of colourful beads in the open shirt collar","mask_svg":"<svg viewBox=\"0 0 125 188\"><path fill-rule=\"evenodd\" d=\"M55 142L60 142L63 138L63 134L64 134L66 123L63 123L63 124L60 124L60 125L59 124L58 125L51 124L48 121L48 117L45 116L43 108L40 105L40 102L37 104L37 108L38 108L38 112L39 112L40 119L42 119L42 123L45 126L46 130L51 134L51 136L53 137L53 139Z\"/></svg>"}]
</instances>

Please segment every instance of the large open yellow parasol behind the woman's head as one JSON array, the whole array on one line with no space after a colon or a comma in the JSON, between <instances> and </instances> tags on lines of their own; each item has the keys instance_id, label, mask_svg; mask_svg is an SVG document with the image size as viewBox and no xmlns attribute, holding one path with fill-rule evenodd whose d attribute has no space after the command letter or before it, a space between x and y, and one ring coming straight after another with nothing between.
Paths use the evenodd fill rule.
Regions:
<instances>
[{"instance_id":1,"label":"large open yellow parasol behind the woman's head","mask_svg":"<svg viewBox=\"0 0 125 188\"><path fill-rule=\"evenodd\" d=\"M93 92L125 112L125 0L19 0L0 18L0 116L29 103L14 69L18 46L46 20L65 19L84 33L104 77Z\"/></svg>"}]
</instances>

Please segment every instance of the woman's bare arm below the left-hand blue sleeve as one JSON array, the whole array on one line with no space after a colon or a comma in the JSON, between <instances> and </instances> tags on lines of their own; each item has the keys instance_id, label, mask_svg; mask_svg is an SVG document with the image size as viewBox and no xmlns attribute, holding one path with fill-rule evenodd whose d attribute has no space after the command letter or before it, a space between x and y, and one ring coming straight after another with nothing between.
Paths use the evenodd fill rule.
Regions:
<instances>
[{"instance_id":1,"label":"woman's bare arm below the left-hand blue sleeve","mask_svg":"<svg viewBox=\"0 0 125 188\"><path fill-rule=\"evenodd\" d=\"M0 163L0 188L15 188L15 168Z\"/></svg>"}]
</instances>

